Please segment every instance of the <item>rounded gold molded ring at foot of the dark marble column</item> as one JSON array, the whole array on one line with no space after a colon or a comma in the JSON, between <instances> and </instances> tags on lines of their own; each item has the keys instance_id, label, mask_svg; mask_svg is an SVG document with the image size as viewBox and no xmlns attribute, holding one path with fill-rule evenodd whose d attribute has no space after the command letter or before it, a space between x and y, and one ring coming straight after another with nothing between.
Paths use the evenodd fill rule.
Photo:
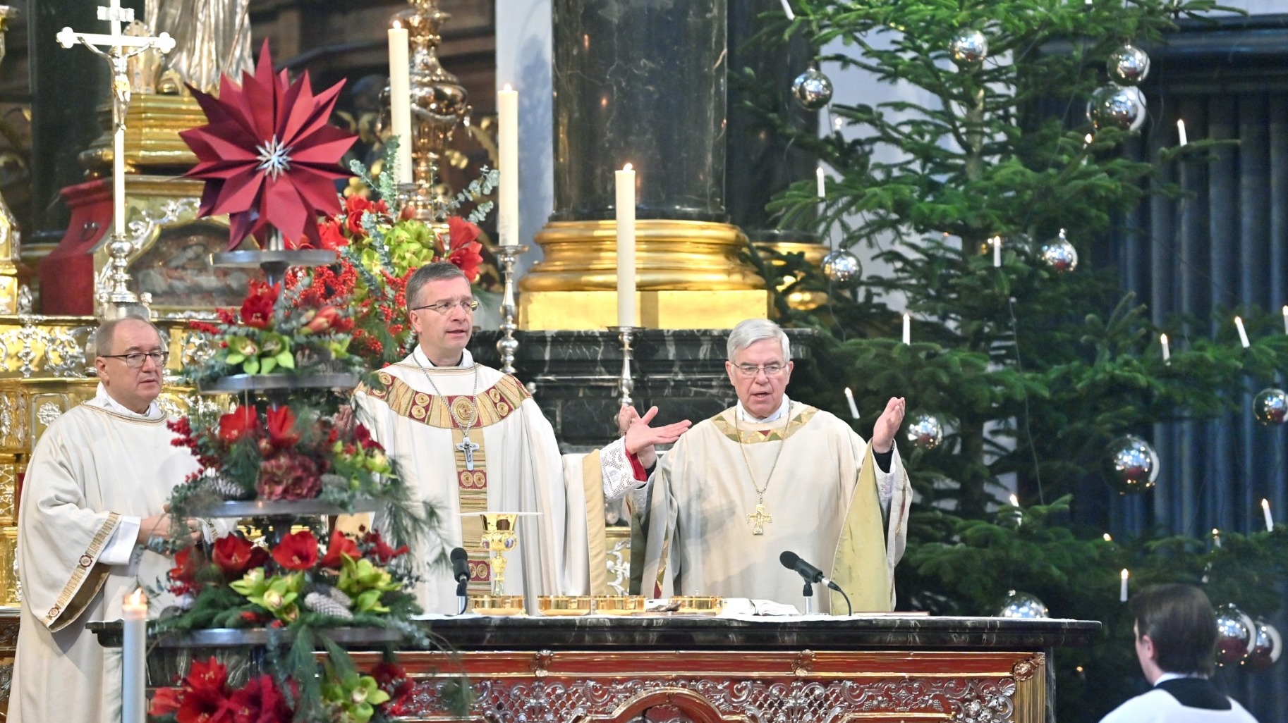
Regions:
<instances>
[{"instance_id":1,"label":"rounded gold molded ring at foot of the dark marble column","mask_svg":"<svg viewBox=\"0 0 1288 723\"><path fill-rule=\"evenodd\" d=\"M519 279L519 291L617 288L617 221L551 221L537 232L535 241L545 259ZM635 287L639 291L764 289L765 279L738 257L746 251L747 237L734 225L639 220L635 223ZM608 325L613 323L616 315Z\"/></svg>"}]
</instances>

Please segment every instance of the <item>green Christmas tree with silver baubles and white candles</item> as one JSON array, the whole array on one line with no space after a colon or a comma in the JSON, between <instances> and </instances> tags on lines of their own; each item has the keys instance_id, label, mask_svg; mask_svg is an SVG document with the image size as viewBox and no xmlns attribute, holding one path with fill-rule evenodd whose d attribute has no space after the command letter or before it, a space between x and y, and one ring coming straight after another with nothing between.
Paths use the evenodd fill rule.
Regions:
<instances>
[{"instance_id":1,"label":"green Christmas tree with silver baubles and white candles","mask_svg":"<svg viewBox=\"0 0 1288 723\"><path fill-rule=\"evenodd\" d=\"M796 378L792 394L842 417L841 387L859 409L908 398L918 504L900 609L992 615L1019 589L1052 616L1104 621L1097 645L1056 657L1057 719L1097 720L1139 692L1122 570L1133 587L1206 584L1215 603L1255 615L1279 607L1288 572L1282 527L1225 534L1220 545L1166 529L1105 533L1117 494L1150 494L1155 425L1243 409L1244 394L1275 386L1288 360L1288 334L1269 333L1278 320L1265 311L1155 324L1104 262L1144 198L1182 196L1163 169L1221 152L1212 140L1146 160L1122 152L1148 118L1140 48L1162 42L1177 18L1218 8L792 0L787 9L766 17L766 42L805 33L844 49L822 55L822 67L859 68L933 99L831 98L811 69L792 93L827 107L831 133L799 129L772 103L765 112L831 167L770 206L784 226L836 241L822 269L801 257L765 269L790 277L779 298L787 322L824 334L811 378ZM862 274L858 257L889 271ZM828 301L792 309L788 295L802 291ZM1163 333L1186 341L1173 349ZM1282 392L1258 403L1266 421L1283 421Z\"/></svg>"}]
</instances>

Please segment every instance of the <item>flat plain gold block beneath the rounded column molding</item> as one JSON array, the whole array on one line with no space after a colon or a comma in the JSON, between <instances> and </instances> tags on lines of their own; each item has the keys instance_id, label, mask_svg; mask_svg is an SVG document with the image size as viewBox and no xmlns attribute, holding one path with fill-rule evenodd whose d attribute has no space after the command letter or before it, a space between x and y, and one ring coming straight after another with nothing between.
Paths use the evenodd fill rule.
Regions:
<instances>
[{"instance_id":1,"label":"flat plain gold block beneath the rounded column molding","mask_svg":"<svg viewBox=\"0 0 1288 723\"><path fill-rule=\"evenodd\" d=\"M638 291L635 324L648 329L732 329L769 318L769 292ZM519 296L523 331L586 331L617 325L616 291L529 291Z\"/></svg>"}]
</instances>

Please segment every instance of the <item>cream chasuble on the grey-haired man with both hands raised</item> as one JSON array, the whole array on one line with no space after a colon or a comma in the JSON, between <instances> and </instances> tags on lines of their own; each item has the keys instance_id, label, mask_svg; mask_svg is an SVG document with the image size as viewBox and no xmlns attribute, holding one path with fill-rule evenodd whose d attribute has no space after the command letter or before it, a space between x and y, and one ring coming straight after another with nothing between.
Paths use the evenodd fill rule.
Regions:
<instances>
[{"instance_id":1,"label":"cream chasuble on the grey-haired man with both hands raised","mask_svg":"<svg viewBox=\"0 0 1288 723\"><path fill-rule=\"evenodd\" d=\"M855 612L891 610L912 497L899 454L887 526L871 450L849 425L797 403L774 422L735 425L735 409L694 425L658 463L644 594L750 597L804 610L804 580L778 561L792 551L836 579ZM829 605L827 592L814 585L815 610L840 605L844 614L840 596Z\"/></svg>"}]
</instances>

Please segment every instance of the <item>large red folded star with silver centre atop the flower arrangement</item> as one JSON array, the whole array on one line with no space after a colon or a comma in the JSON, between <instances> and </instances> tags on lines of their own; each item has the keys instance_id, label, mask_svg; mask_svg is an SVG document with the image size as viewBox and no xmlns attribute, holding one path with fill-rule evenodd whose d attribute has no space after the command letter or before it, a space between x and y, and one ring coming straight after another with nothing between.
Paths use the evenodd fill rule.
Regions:
<instances>
[{"instance_id":1,"label":"large red folded star with silver centre atop the flower arrangement","mask_svg":"<svg viewBox=\"0 0 1288 723\"><path fill-rule=\"evenodd\" d=\"M200 216L229 215L228 248L265 241L270 226L317 244L318 214L340 212L335 181L349 174L339 161L357 140L327 124L343 85L313 95L307 72L294 84L274 75L265 40L241 85L224 76L218 98L188 86L210 122L179 134L198 160L185 175L206 180Z\"/></svg>"}]
</instances>

